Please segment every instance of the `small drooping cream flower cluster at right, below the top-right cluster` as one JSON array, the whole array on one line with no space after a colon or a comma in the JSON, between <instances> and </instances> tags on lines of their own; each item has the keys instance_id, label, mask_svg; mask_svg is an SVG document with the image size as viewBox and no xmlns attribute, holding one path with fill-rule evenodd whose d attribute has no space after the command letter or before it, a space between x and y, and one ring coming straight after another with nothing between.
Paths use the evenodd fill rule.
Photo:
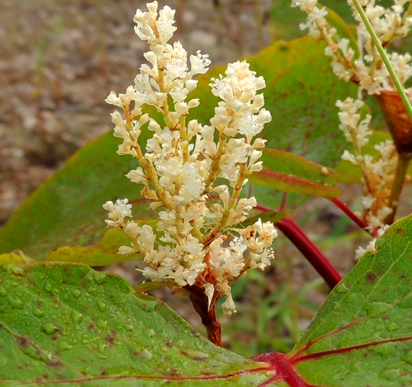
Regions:
<instances>
[{"instance_id":1,"label":"small drooping cream flower cluster at right, below the top-right cluster","mask_svg":"<svg viewBox=\"0 0 412 387\"><path fill-rule=\"evenodd\" d=\"M392 213L388 198L395 177L398 155L391 140L375 145L374 148L379 152L376 159L362 154L362 147L369 142L368 137L372 134L368 126L371 116L366 114L365 118L360 120L361 114L358 111L362 108L363 102L359 100L347 98L343 102L338 101L336 105L341 109L339 127L354 149L354 153L345 150L342 158L357 165L362 172L364 221L369 231L373 231L382 226L384 219Z\"/></svg>"}]
</instances>

